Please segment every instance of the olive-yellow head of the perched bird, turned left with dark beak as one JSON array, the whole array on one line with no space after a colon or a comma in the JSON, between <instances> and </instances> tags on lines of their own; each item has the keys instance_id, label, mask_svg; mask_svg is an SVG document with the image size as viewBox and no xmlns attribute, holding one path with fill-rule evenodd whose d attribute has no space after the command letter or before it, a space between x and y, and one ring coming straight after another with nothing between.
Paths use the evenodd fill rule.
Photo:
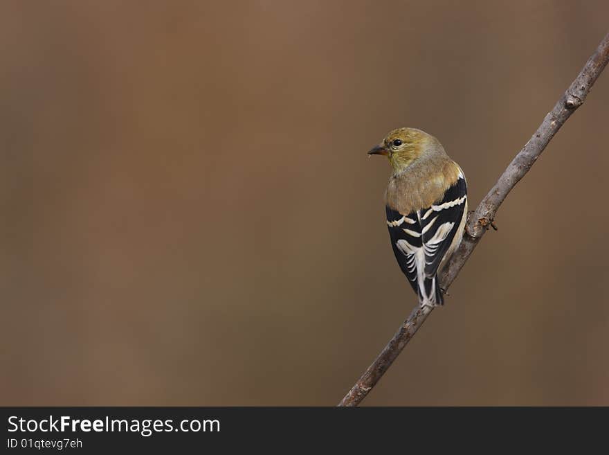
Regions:
<instances>
[{"instance_id":1,"label":"olive-yellow head of the perched bird, turned left with dark beak","mask_svg":"<svg viewBox=\"0 0 609 455\"><path fill-rule=\"evenodd\" d=\"M401 172L419 159L427 150L426 145L434 140L433 136L416 128L398 128L390 131L368 155L388 157L394 172Z\"/></svg>"}]
</instances>

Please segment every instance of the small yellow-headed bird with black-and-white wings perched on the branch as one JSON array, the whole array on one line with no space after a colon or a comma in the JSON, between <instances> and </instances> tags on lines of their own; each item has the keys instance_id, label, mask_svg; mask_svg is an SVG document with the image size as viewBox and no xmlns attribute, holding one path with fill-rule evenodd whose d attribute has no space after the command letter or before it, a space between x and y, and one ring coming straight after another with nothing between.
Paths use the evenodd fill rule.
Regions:
<instances>
[{"instance_id":1,"label":"small yellow-headed bird with black-and-white wings perched on the branch","mask_svg":"<svg viewBox=\"0 0 609 455\"><path fill-rule=\"evenodd\" d=\"M398 265L420 307L444 305L438 273L463 238L465 175L440 141L417 128L390 131L372 155L388 157L392 168L385 213Z\"/></svg>"}]
</instances>

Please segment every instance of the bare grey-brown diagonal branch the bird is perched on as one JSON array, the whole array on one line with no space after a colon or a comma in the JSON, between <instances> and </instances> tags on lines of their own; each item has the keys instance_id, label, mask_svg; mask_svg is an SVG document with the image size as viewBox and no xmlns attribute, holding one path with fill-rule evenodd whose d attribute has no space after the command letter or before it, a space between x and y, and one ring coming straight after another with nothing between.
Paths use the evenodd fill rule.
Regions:
<instances>
[{"instance_id":1,"label":"bare grey-brown diagonal branch the bird is perched on","mask_svg":"<svg viewBox=\"0 0 609 455\"><path fill-rule=\"evenodd\" d=\"M543 152L549 141L554 137L554 134L563 126L563 123L567 121L567 118L573 114L575 109L583 104L590 88L592 88L592 84L597 80L608 61L609 34L603 38L601 44L599 44L592 57L588 59L579 75L563 96L561 96L561 99L556 102L554 109L545 116L535 134L531 136L531 139L509 163L509 166L499 177L495 186L491 188L489 193L482 199L482 202L480 202L478 208L469 216L466 234L463 237L461 246L455 251L440 276L444 289L448 289L448 286L453 283L465 261L469 258L476 245L478 245L478 242L480 242L482 235L491 226L499 206L508 193L522 177L525 177L525 174L534 165L541 152ZM408 319L400 326L387 346L381 351L379 357L376 357L372 365L361 375L338 406L357 406L365 398L370 390L372 390L372 387L379 382L399 353L401 353L404 346L417 333L417 330L425 322L431 311L432 308L430 307L419 308L418 306L412 310Z\"/></svg>"}]
</instances>

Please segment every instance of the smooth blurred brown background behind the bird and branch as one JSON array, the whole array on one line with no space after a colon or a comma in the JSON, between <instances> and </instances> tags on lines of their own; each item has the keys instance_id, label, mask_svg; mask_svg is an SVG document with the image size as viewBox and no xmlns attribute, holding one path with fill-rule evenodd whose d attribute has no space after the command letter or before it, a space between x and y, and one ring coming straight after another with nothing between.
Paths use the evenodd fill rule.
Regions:
<instances>
[{"instance_id":1,"label":"smooth blurred brown background behind the bird and branch","mask_svg":"<svg viewBox=\"0 0 609 455\"><path fill-rule=\"evenodd\" d=\"M401 125L475 206L597 1L5 1L1 404L334 405L416 297ZM609 71L609 70L608 70ZM609 73L367 405L609 404Z\"/></svg>"}]
</instances>

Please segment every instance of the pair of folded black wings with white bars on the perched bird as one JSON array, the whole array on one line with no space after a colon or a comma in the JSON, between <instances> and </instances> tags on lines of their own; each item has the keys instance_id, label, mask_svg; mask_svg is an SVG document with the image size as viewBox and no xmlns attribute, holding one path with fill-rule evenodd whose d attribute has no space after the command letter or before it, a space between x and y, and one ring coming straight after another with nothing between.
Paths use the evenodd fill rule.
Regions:
<instances>
[{"instance_id":1,"label":"pair of folded black wings with white bars on the perched bird","mask_svg":"<svg viewBox=\"0 0 609 455\"><path fill-rule=\"evenodd\" d=\"M463 229L462 220L466 215L466 193L465 179L460 176L442 199L428 208L404 215L385 207L394 255L419 295L421 290L425 291L424 295L430 295L430 289L421 287L436 285L435 275L442 259L454 247L455 235L462 235L459 231Z\"/></svg>"}]
</instances>

